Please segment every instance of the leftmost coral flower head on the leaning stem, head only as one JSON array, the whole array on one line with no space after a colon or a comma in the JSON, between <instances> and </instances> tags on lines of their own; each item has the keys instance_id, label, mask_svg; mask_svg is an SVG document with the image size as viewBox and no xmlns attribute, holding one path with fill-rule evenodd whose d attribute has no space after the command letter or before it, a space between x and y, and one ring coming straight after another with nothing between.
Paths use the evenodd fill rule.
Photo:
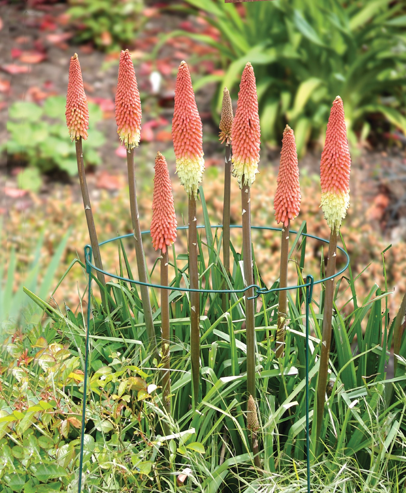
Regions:
<instances>
[{"instance_id":1,"label":"leftmost coral flower head on the leaning stem, head only","mask_svg":"<svg viewBox=\"0 0 406 493\"><path fill-rule=\"evenodd\" d=\"M85 141L89 128L89 109L77 53L70 57L65 116L70 140L73 142L81 137Z\"/></svg>"}]
</instances>

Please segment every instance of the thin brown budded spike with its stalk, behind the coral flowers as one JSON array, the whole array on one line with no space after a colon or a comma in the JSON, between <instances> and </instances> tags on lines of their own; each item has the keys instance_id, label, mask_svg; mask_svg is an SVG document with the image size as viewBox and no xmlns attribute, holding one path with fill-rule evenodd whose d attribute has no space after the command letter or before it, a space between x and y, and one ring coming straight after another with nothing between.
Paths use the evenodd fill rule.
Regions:
<instances>
[{"instance_id":1,"label":"thin brown budded spike with its stalk, behind the coral flowers","mask_svg":"<svg viewBox=\"0 0 406 493\"><path fill-rule=\"evenodd\" d=\"M223 90L223 104L221 108L219 141L226 143L226 156L224 166L224 204L223 204L223 266L227 276L230 276L230 197L231 197L231 134L233 130L233 105L227 87ZM226 288L223 282L222 289ZM229 304L227 293L222 295L223 312L226 312Z\"/></svg>"}]
</instances>

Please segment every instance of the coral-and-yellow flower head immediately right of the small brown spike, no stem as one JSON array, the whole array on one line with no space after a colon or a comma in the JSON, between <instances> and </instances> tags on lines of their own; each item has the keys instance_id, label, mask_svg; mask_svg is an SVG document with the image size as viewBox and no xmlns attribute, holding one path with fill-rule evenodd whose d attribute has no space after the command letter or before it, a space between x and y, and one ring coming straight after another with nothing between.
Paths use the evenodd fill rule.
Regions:
<instances>
[{"instance_id":1,"label":"coral-and-yellow flower head immediately right of the small brown spike, no stem","mask_svg":"<svg viewBox=\"0 0 406 493\"><path fill-rule=\"evenodd\" d=\"M237 111L233 122L233 176L239 187L252 186L258 173L261 129L258 116L258 96L255 75L248 62L242 72L239 85ZM244 175L244 183L241 182Z\"/></svg>"}]
</instances>

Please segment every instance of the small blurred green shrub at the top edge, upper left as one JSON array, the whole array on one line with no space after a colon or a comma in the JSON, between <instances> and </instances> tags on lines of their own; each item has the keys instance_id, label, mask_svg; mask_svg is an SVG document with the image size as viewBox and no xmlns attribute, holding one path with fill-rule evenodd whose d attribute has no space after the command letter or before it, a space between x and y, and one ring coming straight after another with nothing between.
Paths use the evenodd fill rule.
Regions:
<instances>
[{"instance_id":1,"label":"small blurred green shrub at the top edge, upper left","mask_svg":"<svg viewBox=\"0 0 406 493\"><path fill-rule=\"evenodd\" d=\"M143 0L70 0L68 15L79 28L77 42L92 41L98 48L109 51L135 39L143 23Z\"/></svg>"}]
</instances>

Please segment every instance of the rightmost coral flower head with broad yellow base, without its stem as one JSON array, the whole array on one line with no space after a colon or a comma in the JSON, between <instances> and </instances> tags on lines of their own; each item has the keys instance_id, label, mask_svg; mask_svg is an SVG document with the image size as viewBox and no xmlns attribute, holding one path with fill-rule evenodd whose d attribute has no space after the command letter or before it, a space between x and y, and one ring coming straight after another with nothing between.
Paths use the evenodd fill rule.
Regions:
<instances>
[{"instance_id":1,"label":"rightmost coral flower head with broad yellow base, without its stem","mask_svg":"<svg viewBox=\"0 0 406 493\"><path fill-rule=\"evenodd\" d=\"M337 234L350 203L350 168L344 107L337 96L331 108L320 161L321 207L327 224L331 230L335 228Z\"/></svg>"}]
</instances>

